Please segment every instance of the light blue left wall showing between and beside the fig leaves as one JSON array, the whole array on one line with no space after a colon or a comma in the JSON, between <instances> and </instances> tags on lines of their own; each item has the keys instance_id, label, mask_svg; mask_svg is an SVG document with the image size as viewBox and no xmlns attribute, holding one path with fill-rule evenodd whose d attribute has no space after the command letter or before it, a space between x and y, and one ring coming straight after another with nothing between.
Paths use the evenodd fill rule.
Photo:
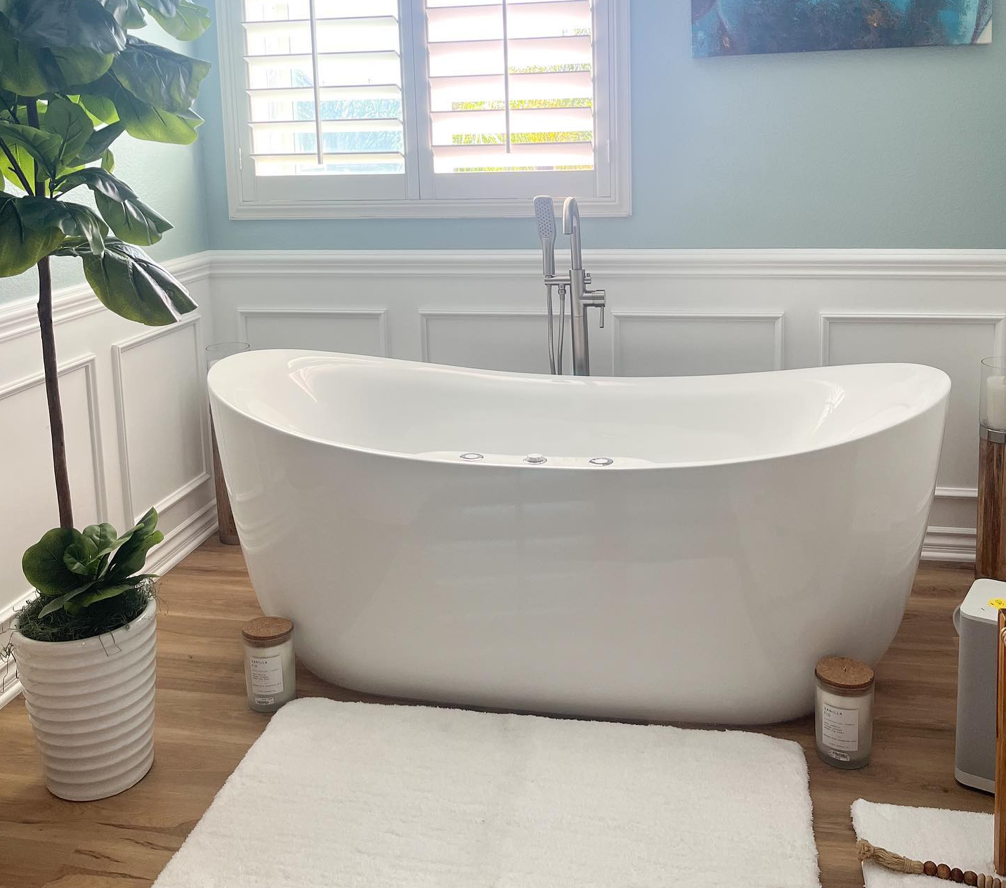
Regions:
<instances>
[{"instance_id":1,"label":"light blue left wall showing between and beside the fig leaves","mask_svg":"<svg viewBox=\"0 0 1006 888\"><path fill-rule=\"evenodd\" d=\"M181 52L195 52L193 44L173 41L156 25L148 26L144 37L174 46ZM216 88L215 84L212 88ZM112 150L116 155L116 175L132 187L144 203L152 206L175 226L164 235L160 243L145 249L159 259L207 249L202 163L196 145L158 145L121 136ZM72 199L94 207L91 194L85 188L73 192ZM56 288L81 283L83 273L79 260L53 258L52 281ZM38 279L34 271L28 271L17 278L0 278L0 303L34 297L37 295L37 285Z\"/></svg>"}]
</instances>

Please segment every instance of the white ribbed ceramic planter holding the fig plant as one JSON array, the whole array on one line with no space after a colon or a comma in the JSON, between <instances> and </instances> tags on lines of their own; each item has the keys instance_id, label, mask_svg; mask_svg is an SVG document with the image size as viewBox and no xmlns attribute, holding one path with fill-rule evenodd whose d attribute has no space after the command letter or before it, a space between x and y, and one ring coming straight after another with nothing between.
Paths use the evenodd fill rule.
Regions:
<instances>
[{"instance_id":1,"label":"white ribbed ceramic planter holding the fig plant","mask_svg":"<svg viewBox=\"0 0 1006 888\"><path fill-rule=\"evenodd\" d=\"M91 802L128 789L154 761L157 602L82 642L15 632L24 701L53 795Z\"/></svg>"}]
</instances>

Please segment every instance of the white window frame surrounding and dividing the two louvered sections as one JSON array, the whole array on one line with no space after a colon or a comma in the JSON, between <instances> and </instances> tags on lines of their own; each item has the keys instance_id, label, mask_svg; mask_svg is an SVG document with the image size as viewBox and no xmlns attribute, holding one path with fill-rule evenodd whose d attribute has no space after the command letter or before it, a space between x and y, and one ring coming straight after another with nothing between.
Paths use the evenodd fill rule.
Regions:
<instances>
[{"instance_id":1,"label":"white window frame surrounding and dividing the two louvered sections","mask_svg":"<svg viewBox=\"0 0 1006 888\"><path fill-rule=\"evenodd\" d=\"M519 175L521 182L539 193L555 193L560 187L556 176L593 177L591 195L575 195L584 216L628 216L632 214L632 143L630 135L629 85L629 4L630 0L595 0L596 15L604 16L594 41L596 97L595 170L584 173L456 173L426 175L421 156L432 152L413 117L429 119L429 92L416 83L416 53L426 53L423 22L424 0L398 0L403 33L401 47L402 105L405 119L405 175L366 177L256 177L250 155L248 102L245 94L244 34L241 27L241 0L221 0L217 4L217 39L220 54L220 90L223 101L223 145L227 196L232 219L344 219L344 218L512 218L527 216L528 195L512 193L507 180ZM417 26L415 26L417 24ZM408 39L411 35L411 39ZM600 75L600 76L599 76ZM607 113L605 113L607 111ZM426 154L425 154L426 153ZM429 160L429 158L427 157ZM495 178L494 177L498 177ZM371 182L358 198L317 197L319 180L345 178L386 179ZM401 180L404 178L404 188ZM448 179L453 181L448 182ZM274 179L270 182L270 179ZM281 182L275 181L282 180ZM422 179L422 186L421 186ZM582 181L582 179L581 179ZM364 183L361 183L364 184ZM482 188L479 196L465 197L472 186ZM420 196L438 194L437 197ZM374 196L384 189L386 197ZM404 192L404 196L402 195ZM351 192L350 192L351 193Z\"/></svg>"}]
</instances>

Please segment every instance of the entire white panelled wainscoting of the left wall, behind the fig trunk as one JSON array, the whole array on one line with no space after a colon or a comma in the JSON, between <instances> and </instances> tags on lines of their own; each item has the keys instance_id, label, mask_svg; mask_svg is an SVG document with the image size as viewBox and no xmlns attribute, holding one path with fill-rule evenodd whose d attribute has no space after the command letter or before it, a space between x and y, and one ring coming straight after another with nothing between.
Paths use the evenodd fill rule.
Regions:
<instances>
[{"instance_id":1,"label":"entire white panelled wainscoting of the left wall, behind the fig trunk","mask_svg":"<svg viewBox=\"0 0 1006 888\"><path fill-rule=\"evenodd\" d=\"M165 539L147 561L155 573L216 526L207 438L200 432L207 413L198 330L210 317L209 256L165 265L204 316L152 330L112 314L86 286L53 300L74 523L111 521L124 529L138 512L163 508ZM59 523L41 364L34 302L0 305L0 648L14 612L31 595L21 553ZM19 691L13 663L0 663L0 706Z\"/></svg>"}]
</instances>

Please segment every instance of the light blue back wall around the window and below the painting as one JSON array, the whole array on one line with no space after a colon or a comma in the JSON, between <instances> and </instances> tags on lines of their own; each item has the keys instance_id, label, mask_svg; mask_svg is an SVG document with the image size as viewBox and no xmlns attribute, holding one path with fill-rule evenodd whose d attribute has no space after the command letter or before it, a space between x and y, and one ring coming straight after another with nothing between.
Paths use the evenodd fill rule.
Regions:
<instances>
[{"instance_id":1,"label":"light blue back wall around the window and below the painting","mask_svg":"<svg viewBox=\"0 0 1006 888\"><path fill-rule=\"evenodd\" d=\"M1006 37L693 59L689 7L632 2L634 215L588 220L591 246L1006 247ZM536 243L520 220L230 220L215 73L203 96L214 248Z\"/></svg>"}]
</instances>

